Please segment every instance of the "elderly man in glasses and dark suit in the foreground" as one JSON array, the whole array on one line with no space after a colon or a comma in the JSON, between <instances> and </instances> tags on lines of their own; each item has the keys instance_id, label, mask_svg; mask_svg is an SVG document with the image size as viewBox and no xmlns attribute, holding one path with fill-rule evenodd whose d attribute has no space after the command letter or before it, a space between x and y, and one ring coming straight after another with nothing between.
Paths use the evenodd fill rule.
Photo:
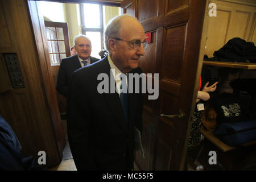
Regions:
<instances>
[{"instance_id":1,"label":"elderly man in glasses and dark suit in the foreground","mask_svg":"<svg viewBox=\"0 0 256 182\"><path fill-rule=\"evenodd\" d=\"M133 169L134 127L142 130L142 93L127 93L117 85L120 73L123 79L142 73L138 64L147 46L144 29L133 16L119 15L106 26L105 46L108 56L73 72L69 85L67 129L78 170ZM98 86L102 74L109 84L104 93Z\"/></svg>"}]
</instances>

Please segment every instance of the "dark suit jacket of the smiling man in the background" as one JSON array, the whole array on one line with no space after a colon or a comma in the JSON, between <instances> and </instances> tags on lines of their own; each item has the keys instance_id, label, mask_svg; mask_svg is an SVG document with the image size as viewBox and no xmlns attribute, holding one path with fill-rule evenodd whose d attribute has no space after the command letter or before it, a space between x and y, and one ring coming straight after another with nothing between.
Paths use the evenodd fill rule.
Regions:
<instances>
[{"instance_id":1,"label":"dark suit jacket of the smiling man in the background","mask_svg":"<svg viewBox=\"0 0 256 182\"><path fill-rule=\"evenodd\" d=\"M90 64L95 63L99 59L90 56ZM57 77L56 90L61 95L68 97L68 82L71 74L81 68L81 64L77 55L66 57L61 60L59 73Z\"/></svg>"}]
</instances>

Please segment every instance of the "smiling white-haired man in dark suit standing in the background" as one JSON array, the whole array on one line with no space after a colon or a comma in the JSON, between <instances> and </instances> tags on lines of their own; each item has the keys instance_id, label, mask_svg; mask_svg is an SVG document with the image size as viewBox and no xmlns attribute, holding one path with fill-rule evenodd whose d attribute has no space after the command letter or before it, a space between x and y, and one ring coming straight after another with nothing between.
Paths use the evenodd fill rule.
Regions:
<instances>
[{"instance_id":1,"label":"smiling white-haired man in dark suit standing in the background","mask_svg":"<svg viewBox=\"0 0 256 182\"><path fill-rule=\"evenodd\" d=\"M75 36L74 44L77 55L66 57L61 60L57 77L56 90L65 97L68 97L68 82L71 74L77 69L95 63L99 60L90 56L90 53L92 52L92 43L85 35Z\"/></svg>"}]
</instances>

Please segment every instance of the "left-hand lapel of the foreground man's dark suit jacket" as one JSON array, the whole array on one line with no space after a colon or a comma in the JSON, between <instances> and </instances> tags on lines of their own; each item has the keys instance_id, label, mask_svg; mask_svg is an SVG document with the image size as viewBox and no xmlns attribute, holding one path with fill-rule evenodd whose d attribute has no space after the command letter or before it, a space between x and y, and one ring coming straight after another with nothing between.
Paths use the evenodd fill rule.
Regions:
<instances>
[{"instance_id":1,"label":"left-hand lapel of the foreground man's dark suit jacket","mask_svg":"<svg viewBox=\"0 0 256 182\"><path fill-rule=\"evenodd\" d=\"M109 77L109 93L104 93L105 100L108 102L109 108L112 111L118 125L123 129L123 131L128 134L128 125L126 123L125 114L123 114L123 109L118 93L110 93L110 78L114 78L113 74L110 73L110 65L108 57L105 57L104 61L104 71ZM110 77L111 76L111 77Z\"/></svg>"}]
</instances>

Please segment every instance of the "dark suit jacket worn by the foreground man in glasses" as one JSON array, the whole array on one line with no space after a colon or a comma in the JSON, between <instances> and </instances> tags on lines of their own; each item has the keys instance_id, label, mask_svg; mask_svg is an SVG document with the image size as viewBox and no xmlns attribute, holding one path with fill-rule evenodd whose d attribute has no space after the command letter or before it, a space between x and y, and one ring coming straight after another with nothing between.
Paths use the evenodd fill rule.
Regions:
<instances>
[{"instance_id":1,"label":"dark suit jacket worn by the foreground man in glasses","mask_svg":"<svg viewBox=\"0 0 256 182\"><path fill-rule=\"evenodd\" d=\"M134 126L142 130L143 96L129 93L127 123L118 93L97 92L100 73L110 78L107 56L73 72L71 77L67 129L73 159L78 170L131 169ZM142 70L137 68L131 73L140 74Z\"/></svg>"}]
</instances>

